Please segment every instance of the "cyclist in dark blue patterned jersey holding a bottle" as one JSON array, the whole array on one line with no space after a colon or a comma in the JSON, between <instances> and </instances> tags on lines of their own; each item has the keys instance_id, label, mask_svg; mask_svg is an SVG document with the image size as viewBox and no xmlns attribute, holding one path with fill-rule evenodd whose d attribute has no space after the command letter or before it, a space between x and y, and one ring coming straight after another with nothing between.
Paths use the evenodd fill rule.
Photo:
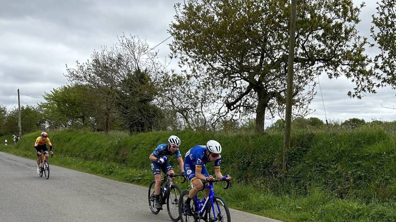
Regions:
<instances>
[{"instance_id":1,"label":"cyclist in dark blue patterned jersey holding a bottle","mask_svg":"<svg viewBox=\"0 0 396 222\"><path fill-rule=\"evenodd\" d=\"M171 135L168 139L168 144L160 144L158 147L150 154L150 160L151 160L151 170L152 173L154 174L155 178L155 185L154 185L154 195L155 195L155 205L154 207L156 209L161 209L162 206L160 203L160 189L161 189L161 180L162 180L162 175L160 169L165 174L174 174L175 171L173 171L173 168L168 162L168 158L171 157L173 154L176 154L177 161L179 162L181 172L183 176L187 177L187 175L184 172L183 168L183 158L181 157L179 146L181 144L181 141L179 137L175 135ZM172 179L175 179L174 177Z\"/></svg>"}]
</instances>

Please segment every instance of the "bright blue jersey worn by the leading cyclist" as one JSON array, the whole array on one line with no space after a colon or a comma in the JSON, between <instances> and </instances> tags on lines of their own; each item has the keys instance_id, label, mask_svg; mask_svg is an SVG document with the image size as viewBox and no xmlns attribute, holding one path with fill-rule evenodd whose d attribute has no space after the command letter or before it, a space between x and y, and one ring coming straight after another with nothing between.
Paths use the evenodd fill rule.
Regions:
<instances>
[{"instance_id":1,"label":"bright blue jersey worn by the leading cyclist","mask_svg":"<svg viewBox=\"0 0 396 222\"><path fill-rule=\"evenodd\" d=\"M198 145L192 147L186 153L185 164L192 164L195 166L202 166L210 162L208 155L206 155L206 146ZM215 160L215 167L219 167L221 162L221 155Z\"/></svg>"}]
</instances>

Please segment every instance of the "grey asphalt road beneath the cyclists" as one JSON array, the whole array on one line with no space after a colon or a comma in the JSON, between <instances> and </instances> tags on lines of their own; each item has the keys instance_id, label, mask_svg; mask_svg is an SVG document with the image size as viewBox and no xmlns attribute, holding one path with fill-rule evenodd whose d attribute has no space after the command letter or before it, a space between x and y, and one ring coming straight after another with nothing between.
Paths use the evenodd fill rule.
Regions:
<instances>
[{"instance_id":1,"label":"grey asphalt road beneath the cyclists","mask_svg":"<svg viewBox=\"0 0 396 222\"><path fill-rule=\"evenodd\" d=\"M166 206L159 214L150 212L147 191L57 166L50 166L47 180L36 173L34 160L0 152L0 221L171 221ZM231 218L278 221L237 210Z\"/></svg>"}]
</instances>

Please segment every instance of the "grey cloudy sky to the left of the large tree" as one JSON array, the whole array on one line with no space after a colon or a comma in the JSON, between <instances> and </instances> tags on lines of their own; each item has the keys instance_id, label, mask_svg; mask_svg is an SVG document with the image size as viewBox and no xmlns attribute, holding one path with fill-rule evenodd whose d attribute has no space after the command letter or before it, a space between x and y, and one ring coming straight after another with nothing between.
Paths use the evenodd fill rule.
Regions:
<instances>
[{"instance_id":1,"label":"grey cloudy sky to the left of the large tree","mask_svg":"<svg viewBox=\"0 0 396 222\"><path fill-rule=\"evenodd\" d=\"M86 61L94 49L138 35L154 46L169 35L177 1L4 1L0 8L0 103L10 106L17 88L31 96L66 84L65 64ZM169 42L169 41L168 41ZM167 42L159 56L169 53ZM42 99L21 95L25 103ZM10 101L11 100L11 101ZM22 103L24 104L24 103Z\"/></svg>"}]
</instances>

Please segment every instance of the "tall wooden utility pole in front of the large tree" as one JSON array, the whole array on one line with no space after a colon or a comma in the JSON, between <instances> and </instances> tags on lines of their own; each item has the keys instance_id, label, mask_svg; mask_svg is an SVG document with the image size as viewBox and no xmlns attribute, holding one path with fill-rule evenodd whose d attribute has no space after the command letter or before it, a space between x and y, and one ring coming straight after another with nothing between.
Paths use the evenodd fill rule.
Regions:
<instances>
[{"instance_id":1,"label":"tall wooden utility pole in front of the large tree","mask_svg":"<svg viewBox=\"0 0 396 222\"><path fill-rule=\"evenodd\" d=\"M289 65L287 68L287 92L286 92L286 116L285 116L285 136L283 141L283 166L282 170L286 171L285 153L290 147L290 131L291 131L291 103L293 97L293 68L294 68L294 46L296 33L296 0L291 0L290 13L290 37L289 37Z\"/></svg>"}]
</instances>

